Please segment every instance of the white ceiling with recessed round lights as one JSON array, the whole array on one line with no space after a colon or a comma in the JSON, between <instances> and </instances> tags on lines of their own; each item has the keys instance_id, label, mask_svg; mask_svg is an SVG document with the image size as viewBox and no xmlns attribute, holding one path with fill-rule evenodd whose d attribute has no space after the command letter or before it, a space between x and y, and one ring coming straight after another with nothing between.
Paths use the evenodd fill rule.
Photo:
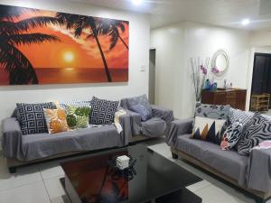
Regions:
<instances>
[{"instance_id":1,"label":"white ceiling with recessed round lights","mask_svg":"<svg viewBox=\"0 0 271 203\"><path fill-rule=\"evenodd\" d=\"M69 0L151 14L151 26L192 21L239 29L271 28L271 0ZM241 21L249 18L248 26Z\"/></svg>"}]
</instances>

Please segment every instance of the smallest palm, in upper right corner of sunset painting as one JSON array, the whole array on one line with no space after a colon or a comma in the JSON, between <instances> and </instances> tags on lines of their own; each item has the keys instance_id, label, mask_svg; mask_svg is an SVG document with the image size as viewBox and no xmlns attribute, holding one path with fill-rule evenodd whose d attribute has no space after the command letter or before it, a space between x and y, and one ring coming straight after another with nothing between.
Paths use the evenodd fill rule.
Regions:
<instances>
[{"instance_id":1,"label":"smallest palm, in upper right corner of sunset painting","mask_svg":"<svg viewBox=\"0 0 271 203\"><path fill-rule=\"evenodd\" d=\"M99 34L108 35L111 37L109 50L112 50L116 46L118 40L120 40L125 45L126 49L129 50L128 45L126 44L124 39L120 36L119 32L126 31L125 26L126 24L128 24L128 22L126 21L116 21L111 19L100 19L98 21Z\"/></svg>"}]
</instances>

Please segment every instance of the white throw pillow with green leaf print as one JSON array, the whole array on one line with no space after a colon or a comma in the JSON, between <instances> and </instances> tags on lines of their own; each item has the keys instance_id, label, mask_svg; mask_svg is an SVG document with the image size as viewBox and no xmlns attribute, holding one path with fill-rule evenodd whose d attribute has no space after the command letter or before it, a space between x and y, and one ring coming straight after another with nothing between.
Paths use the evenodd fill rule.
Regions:
<instances>
[{"instance_id":1,"label":"white throw pillow with green leaf print","mask_svg":"<svg viewBox=\"0 0 271 203\"><path fill-rule=\"evenodd\" d=\"M70 129L89 127L90 107L68 106L67 123Z\"/></svg>"}]
</instances>

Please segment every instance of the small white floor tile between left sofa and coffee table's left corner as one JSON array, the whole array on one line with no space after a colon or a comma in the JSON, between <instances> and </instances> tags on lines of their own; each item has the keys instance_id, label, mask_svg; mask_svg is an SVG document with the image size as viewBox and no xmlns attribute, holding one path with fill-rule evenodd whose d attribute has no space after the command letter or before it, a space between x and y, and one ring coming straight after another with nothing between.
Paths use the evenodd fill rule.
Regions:
<instances>
[{"instance_id":1,"label":"small white floor tile between left sofa and coffee table's left corner","mask_svg":"<svg viewBox=\"0 0 271 203\"><path fill-rule=\"evenodd\" d=\"M39 165L39 168L42 174L42 180L47 180L60 176L64 177L65 175L58 161L41 163Z\"/></svg>"}]
</instances>

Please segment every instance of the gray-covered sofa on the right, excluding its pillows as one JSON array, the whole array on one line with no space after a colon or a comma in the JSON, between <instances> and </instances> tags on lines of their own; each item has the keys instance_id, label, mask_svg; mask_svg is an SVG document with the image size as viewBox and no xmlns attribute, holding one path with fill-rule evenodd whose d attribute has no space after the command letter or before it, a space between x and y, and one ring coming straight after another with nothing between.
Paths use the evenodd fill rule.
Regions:
<instances>
[{"instance_id":1,"label":"gray-covered sofa on the right, excluding its pillows","mask_svg":"<svg viewBox=\"0 0 271 203\"><path fill-rule=\"evenodd\" d=\"M173 158L178 157L200 166L253 194L257 202L271 196L271 149L252 150L249 156L236 151L222 151L220 145L190 138L193 119L175 120L166 142Z\"/></svg>"}]
</instances>

